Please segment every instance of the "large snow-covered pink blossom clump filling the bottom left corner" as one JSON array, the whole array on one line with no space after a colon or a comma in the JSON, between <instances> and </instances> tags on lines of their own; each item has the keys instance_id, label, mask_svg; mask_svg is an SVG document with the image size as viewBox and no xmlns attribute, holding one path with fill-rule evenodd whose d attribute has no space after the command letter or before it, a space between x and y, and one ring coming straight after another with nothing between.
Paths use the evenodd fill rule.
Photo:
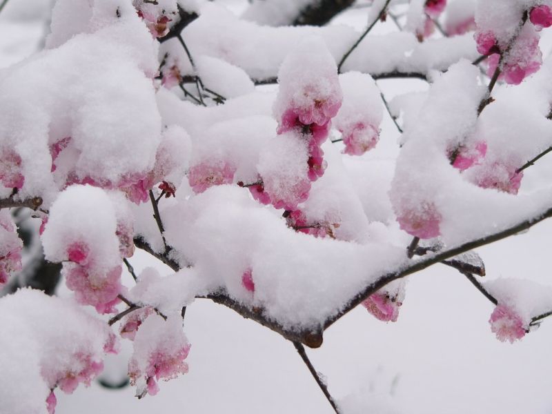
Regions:
<instances>
[{"instance_id":1,"label":"large snow-covered pink blossom clump filling the bottom left corner","mask_svg":"<svg viewBox=\"0 0 552 414\"><path fill-rule=\"evenodd\" d=\"M90 385L101 371L112 332L74 302L21 289L0 300L0 313L0 386L5 391L0 394L6 413L53 412L52 389L71 393L79 384ZM22 384L23 379L25 398L9 391L10 382Z\"/></svg>"}]
</instances>

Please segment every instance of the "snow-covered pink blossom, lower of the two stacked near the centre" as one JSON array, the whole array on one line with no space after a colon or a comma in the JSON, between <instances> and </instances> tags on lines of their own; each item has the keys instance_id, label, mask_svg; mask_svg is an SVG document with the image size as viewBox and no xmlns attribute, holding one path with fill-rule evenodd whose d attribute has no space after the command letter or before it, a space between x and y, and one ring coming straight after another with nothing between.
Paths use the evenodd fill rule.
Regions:
<instances>
[{"instance_id":1,"label":"snow-covered pink blossom, lower of the two stacked near the centre","mask_svg":"<svg viewBox=\"0 0 552 414\"><path fill-rule=\"evenodd\" d=\"M259 154L257 169L264 191L275 208L295 210L311 190L308 150L304 139L290 131L273 138Z\"/></svg>"}]
</instances>

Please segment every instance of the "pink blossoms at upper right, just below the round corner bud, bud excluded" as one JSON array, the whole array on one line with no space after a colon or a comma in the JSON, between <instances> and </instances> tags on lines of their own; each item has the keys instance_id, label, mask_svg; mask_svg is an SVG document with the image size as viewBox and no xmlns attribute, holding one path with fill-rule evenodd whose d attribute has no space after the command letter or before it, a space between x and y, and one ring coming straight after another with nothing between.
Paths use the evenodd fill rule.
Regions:
<instances>
[{"instance_id":1,"label":"pink blossoms at upper right, just below the round corner bud, bud excluded","mask_svg":"<svg viewBox=\"0 0 552 414\"><path fill-rule=\"evenodd\" d=\"M524 26L501 63L499 79L504 79L511 85L519 85L526 77L537 72L542 64L539 40L540 37L535 28ZM482 55L491 55L487 59L489 65L487 75L492 77L500 63L500 52L503 48L490 31L475 32L475 41L478 52Z\"/></svg>"}]
</instances>

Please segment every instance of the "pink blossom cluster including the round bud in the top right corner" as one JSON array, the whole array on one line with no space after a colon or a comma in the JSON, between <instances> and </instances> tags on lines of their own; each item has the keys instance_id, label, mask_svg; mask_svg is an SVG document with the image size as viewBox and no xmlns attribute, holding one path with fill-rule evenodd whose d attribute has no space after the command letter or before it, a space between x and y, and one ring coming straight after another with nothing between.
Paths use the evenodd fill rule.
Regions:
<instances>
[{"instance_id":1,"label":"pink blossom cluster including the round bud in the top right corner","mask_svg":"<svg viewBox=\"0 0 552 414\"><path fill-rule=\"evenodd\" d=\"M552 9L546 5L535 6L529 12L531 25L524 25L506 56L502 56L508 48L509 41L500 41L490 30L477 30L475 41L477 51L482 55L490 55L487 74L492 76L501 64L499 79L504 79L511 85L519 85L529 75L537 72L542 64L542 53L539 48L539 34L542 28L552 26ZM502 56L502 62L501 62Z\"/></svg>"}]
</instances>

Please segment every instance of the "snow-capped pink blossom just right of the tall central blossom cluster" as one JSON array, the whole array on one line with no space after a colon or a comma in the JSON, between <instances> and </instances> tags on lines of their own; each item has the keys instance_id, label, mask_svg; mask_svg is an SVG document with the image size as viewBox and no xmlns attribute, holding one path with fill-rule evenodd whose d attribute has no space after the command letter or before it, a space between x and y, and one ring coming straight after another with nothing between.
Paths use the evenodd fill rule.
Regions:
<instances>
[{"instance_id":1,"label":"snow-capped pink blossom just right of the tall central blossom cluster","mask_svg":"<svg viewBox=\"0 0 552 414\"><path fill-rule=\"evenodd\" d=\"M347 72L339 75L343 103L335 117L335 128L342 132L344 153L362 155L380 139L383 118L380 90L370 75Z\"/></svg>"}]
</instances>

